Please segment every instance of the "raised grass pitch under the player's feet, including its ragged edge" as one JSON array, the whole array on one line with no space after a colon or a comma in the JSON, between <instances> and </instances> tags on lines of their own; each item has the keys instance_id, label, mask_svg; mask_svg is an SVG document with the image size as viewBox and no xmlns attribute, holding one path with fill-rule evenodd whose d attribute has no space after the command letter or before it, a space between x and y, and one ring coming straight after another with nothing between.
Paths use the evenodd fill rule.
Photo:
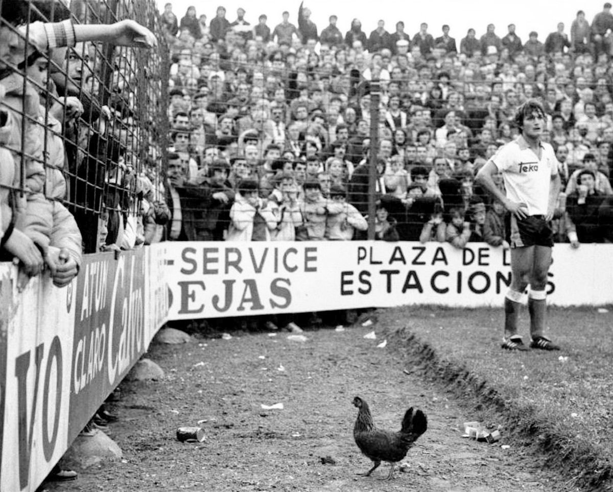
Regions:
<instances>
[{"instance_id":1,"label":"raised grass pitch under the player's feet, including its ragged edge","mask_svg":"<svg viewBox=\"0 0 613 492\"><path fill-rule=\"evenodd\" d=\"M503 310L398 307L379 322L427 371L501 412L508 432L577 485L613 491L613 310L550 308L560 352L500 347ZM520 334L528 336L527 310Z\"/></svg>"}]
</instances>

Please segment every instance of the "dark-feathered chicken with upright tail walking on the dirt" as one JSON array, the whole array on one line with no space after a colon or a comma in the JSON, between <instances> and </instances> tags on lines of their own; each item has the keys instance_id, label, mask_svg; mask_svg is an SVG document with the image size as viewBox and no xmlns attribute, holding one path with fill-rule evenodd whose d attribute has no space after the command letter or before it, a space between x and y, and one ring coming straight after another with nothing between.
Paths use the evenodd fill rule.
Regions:
<instances>
[{"instance_id":1,"label":"dark-feathered chicken with upright tail walking on the dirt","mask_svg":"<svg viewBox=\"0 0 613 492\"><path fill-rule=\"evenodd\" d=\"M356 396L353 399L353 404L359 409L356 425L353 428L353 437L362 454L375 463L375 466L368 472L360 475L368 477L377 469L381 461L387 461L392 466L387 475L387 480L391 480L392 475L394 475L395 463L404 458L417 438L424 434L428 428L428 420L424 412L416 410L413 413L413 407L411 407L406 410L400 431L384 431L375 427L367 402Z\"/></svg>"}]
</instances>

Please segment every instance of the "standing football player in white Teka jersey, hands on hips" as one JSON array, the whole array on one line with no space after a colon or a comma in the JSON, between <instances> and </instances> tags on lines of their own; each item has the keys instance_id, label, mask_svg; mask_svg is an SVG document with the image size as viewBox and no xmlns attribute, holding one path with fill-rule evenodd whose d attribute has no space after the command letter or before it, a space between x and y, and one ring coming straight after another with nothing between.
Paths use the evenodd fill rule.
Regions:
<instances>
[{"instance_id":1,"label":"standing football player in white Teka jersey, hands on hips","mask_svg":"<svg viewBox=\"0 0 613 492\"><path fill-rule=\"evenodd\" d=\"M530 347L560 350L544 334L547 272L554 245L550 220L560 191L558 160L552 146L541 141L546 114L540 102L534 99L524 102L517 108L514 121L520 136L498 149L476 177L510 212L506 229L511 245L511 288L504 298L502 347L528 350L517 332L517 317L529 284ZM506 195L492 179L499 172L503 175Z\"/></svg>"}]
</instances>

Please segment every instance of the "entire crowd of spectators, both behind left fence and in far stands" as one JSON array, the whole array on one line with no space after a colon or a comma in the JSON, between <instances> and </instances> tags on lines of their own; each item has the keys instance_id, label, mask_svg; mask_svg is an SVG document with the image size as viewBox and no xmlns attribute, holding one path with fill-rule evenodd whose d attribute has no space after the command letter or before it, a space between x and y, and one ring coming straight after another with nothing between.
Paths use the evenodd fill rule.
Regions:
<instances>
[{"instance_id":1,"label":"entire crowd of spectators, both behind left fence and in far stands","mask_svg":"<svg viewBox=\"0 0 613 492\"><path fill-rule=\"evenodd\" d=\"M154 26L169 47L164 74L134 47L110 63L108 33L75 39L80 25L61 23L108 21L97 4L56 4L64 31L40 32L32 22L51 14L23 4L36 7L29 38L23 18L2 12L2 46L14 49L2 58L0 152L2 255L26 277L48 267L66 285L83 252L159 240L365 239L369 200L376 239L506 247L506 212L474 175L517 136L515 110L530 98L546 109L564 182L556 239L613 239L608 3L544 43L522 42L514 25L456 42L448 25L411 36L402 21L393 33L378 21L367 34L354 19L343 34L335 15L320 31L302 4L297 25L289 12L251 25L245 9L230 21L223 6L210 21L189 7L179 21L166 4ZM132 37L115 44L137 46L139 25L122 22ZM157 85L139 89L152 74Z\"/></svg>"}]
</instances>

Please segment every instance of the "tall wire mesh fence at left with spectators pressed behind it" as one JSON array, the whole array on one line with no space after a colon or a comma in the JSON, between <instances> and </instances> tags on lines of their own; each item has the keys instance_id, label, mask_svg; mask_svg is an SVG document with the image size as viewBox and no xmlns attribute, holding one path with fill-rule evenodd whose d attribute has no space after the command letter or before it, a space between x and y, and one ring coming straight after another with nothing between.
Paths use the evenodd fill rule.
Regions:
<instances>
[{"instance_id":1,"label":"tall wire mesh fence at left with spectators pressed behind it","mask_svg":"<svg viewBox=\"0 0 613 492\"><path fill-rule=\"evenodd\" d=\"M143 203L162 193L169 58L163 36L154 49L126 39L134 20L161 32L156 5L0 5L4 255L15 229L43 255L134 247Z\"/></svg>"}]
</instances>

